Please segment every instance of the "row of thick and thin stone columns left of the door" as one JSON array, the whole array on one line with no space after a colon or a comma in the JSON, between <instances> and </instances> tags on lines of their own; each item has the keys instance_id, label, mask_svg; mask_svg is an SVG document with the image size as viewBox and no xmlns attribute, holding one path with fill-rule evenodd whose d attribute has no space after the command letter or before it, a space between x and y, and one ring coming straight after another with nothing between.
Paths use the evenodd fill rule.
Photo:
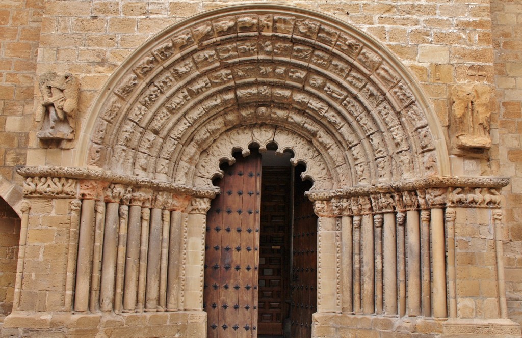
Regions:
<instances>
[{"instance_id":1,"label":"row of thick and thin stone columns left of the door","mask_svg":"<svg viewBox=\"0 0 522 338\"><path fill-rule=\"evenodd\" d=\"M130 198L81 200L77 241L75 236L70 241L71 250L77 249L77 257L72 255L76 271L68 271L76 275L72 308L116 313L200 310L198 299L184 297L199 292L200 285L186 283L185 277L187 269L203 260L204 251L191 247L204 245L210 200L194 200L204 200L204 207L192 202L172 210L168 204L144 206L138 199L133 204ZM202 277L203 266L200 270ZM66 301L66 308L70 306Z\"/></svg>"}]
</instances>

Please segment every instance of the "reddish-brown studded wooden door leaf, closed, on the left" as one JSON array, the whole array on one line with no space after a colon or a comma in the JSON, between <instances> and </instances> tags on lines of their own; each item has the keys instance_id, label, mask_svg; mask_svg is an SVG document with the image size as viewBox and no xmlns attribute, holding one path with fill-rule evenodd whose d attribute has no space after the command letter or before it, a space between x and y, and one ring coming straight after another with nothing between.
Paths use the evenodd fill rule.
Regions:
<instances>
[{"instance_id":1,"label":"reddish-brown studded wooden door leaf, closed, on the left","mask_svg":"<svg viewBox=\"0 0 522 338\"><path fill-rule=\"evenodd\" d=\"M257 337L261 156L236 158L207 214L207 336Z\"/></svg>"}]
</instances>

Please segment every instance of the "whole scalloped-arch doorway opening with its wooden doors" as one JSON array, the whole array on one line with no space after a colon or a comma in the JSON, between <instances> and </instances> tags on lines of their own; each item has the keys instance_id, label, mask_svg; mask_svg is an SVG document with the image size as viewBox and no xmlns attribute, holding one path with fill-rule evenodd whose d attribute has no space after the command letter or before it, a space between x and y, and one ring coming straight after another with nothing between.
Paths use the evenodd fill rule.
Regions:
<instances>
[{"instance_id":1,"label":"whole scalloped-arch doorway opening with its wooden doors","mask_svg":"<svg viewBox=\"0 0 522 338\"><path fill-rule=\"evenodd\" d=\"M234 156L218 179L205 243L208 337L310 337L316 310L317 217L291 155ZM248 332L250 331L250 332Z\"/></svg>"}]
</instances>

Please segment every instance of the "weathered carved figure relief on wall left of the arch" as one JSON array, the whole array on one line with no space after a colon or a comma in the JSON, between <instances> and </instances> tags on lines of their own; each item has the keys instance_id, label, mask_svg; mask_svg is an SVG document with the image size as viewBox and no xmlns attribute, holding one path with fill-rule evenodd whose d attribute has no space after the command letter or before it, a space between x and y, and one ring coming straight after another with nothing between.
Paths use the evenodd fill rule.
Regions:
<instances>
[{"instance_id":1,"label":"weathered carved figure relief on wall left of the arch","mask_svg":"<svg viewBox=\"0 0 522 338\"><path fill-rule=\"evenodd\" d=\"M45 73L40 77L42 110L37 122L41 140L72 140L76 126L78 79L72 74Z\"/></svg>"}]
</instances>

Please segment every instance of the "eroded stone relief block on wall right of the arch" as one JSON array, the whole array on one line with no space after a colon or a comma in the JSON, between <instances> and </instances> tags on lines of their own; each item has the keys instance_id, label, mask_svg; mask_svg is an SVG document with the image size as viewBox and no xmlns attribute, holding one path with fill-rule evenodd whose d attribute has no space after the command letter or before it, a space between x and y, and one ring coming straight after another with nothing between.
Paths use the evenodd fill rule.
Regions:
<instances>
[{"instance_id":1,"label":"eroded stone relief block on wall right of the arch","mask_svg":"<svg viewBox=\"0 0 522 338\"><path fill-rule=\"evenodd\" d=\"M489 149L491 88L485 83L456 85L451 95L455 147Z\"/></svg>"}]
</instances>

